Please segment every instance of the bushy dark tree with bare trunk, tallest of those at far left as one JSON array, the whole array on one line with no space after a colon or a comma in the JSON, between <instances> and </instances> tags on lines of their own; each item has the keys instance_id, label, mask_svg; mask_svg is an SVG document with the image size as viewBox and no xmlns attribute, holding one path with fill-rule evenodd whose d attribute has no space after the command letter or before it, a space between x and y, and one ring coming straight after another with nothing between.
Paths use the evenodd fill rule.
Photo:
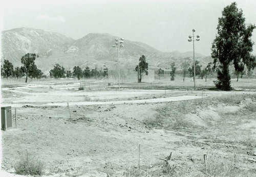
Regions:
<instances>
[{"instance_id":1,"label":"bushy dark tree with bare trunk, tallest of those at far left","mask_svg":"<svg viewBox=\"0 0 256 177\"><path fill-rule=\"evenodd\" d=\"M26 55L22 56L22 64L23 64L22 70L26 74L26 81L25 81L26 83L28 82L29 73L33 71L32 69L34 68L34 65L35 65L35 58L36 58L36 54L31 54L31 53L27 53Z\"/></svg>"}]
</instances>

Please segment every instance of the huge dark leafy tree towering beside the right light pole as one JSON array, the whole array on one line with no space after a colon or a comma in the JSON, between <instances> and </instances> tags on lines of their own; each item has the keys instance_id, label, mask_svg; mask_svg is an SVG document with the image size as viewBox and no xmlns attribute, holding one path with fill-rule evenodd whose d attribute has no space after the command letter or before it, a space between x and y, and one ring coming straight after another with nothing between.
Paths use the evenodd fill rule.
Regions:
<instances>
[{"instance_id":1,"label":"huge dark leafy tree towering beside the right light pole","mask_svg":"<svg viewBox=\"0 0 256 177\"><path fill-rule=\"evenodd\" d=\"M243 11L232 3L222 11L217 26L217 35L212 42L211 57L214 58L214 69L218 74L215 83L220 90L230 91L229 67L234 65L235 71L244 70L243 65L250 67L253 41L251 40L254 25L245 25ZM255 61L255 59L254 59Z\"/></svg>"}]
</instances>

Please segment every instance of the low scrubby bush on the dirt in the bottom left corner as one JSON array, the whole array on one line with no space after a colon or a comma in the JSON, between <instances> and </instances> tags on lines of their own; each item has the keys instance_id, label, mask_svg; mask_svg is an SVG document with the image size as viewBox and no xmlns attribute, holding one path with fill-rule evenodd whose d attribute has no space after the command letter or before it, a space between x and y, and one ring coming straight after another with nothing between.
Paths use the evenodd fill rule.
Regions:
<instances>
[{"instance_id":1,"label":"low scrubby bush on the dirt in the bottom left corner","mask_svg":"<svg viewBox=\"0 0 256 177\"><path fill-rule=\"evenodd\" d=\"M26 156L15 164L14 169L16 174L42 175L44 162L39 159L35 159L27 152Z\"/></svg>"}]
</instances>

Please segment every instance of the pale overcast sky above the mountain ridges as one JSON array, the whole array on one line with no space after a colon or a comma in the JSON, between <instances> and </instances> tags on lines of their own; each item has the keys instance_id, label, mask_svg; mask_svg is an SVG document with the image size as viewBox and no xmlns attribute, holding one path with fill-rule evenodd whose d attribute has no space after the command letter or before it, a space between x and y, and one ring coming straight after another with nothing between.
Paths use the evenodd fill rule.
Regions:
<instances>
[{"instance_id":1,"label":"pale overcast sky above the mountain ridges","mask_svg":"<svg viewBox=\"0 0 256 177\"><path fill-rule=\"evenodd\" d=\"M193 51L188 35L200 35L195 52L210 55L224 7L237 2L246 23L256 24L256 1L1 1L1 31L19 27L59 32L79 39L109 33L163 52ZM253 32L256 42L256 30ZM124 43L125 44L125 43ZM254 45L253 54L256 53Z\"/></svg>"}]
</instances>

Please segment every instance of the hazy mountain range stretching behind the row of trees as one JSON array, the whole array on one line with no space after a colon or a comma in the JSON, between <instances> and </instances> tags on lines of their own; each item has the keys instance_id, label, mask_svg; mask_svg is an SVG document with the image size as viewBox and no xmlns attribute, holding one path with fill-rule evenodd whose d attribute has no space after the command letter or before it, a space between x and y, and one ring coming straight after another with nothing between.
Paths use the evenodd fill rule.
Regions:
<instances>
[{"instance_id":1,"label":"hazy mountain range stretching behind the row of trees","mask_svg":"<svg viewBox=\"0 0 256 177\"><path fill-rule=\"evenodd\" d=\"M66 70L74 66L80 68L89 66L109 69L117 67L117 36L105 33L90 33L80 39L72 39L60 33L47 32L33 28L16 28L2 31L2 60L8 59L14 67L21 65L20 59L26 53L36 53L35 63L43 72L53 69L54 64L62 65ZM148 65L152 69L168 69L170 63L175 62L178 70L184 58L193 61L191 52L161 52L142 42L124 39L124 47L119 49L120 67L135 68L139 57L145 55ZM195 53L195 57L205 67L212 62L210 56Z\"/></svg>"}]
</instances>

